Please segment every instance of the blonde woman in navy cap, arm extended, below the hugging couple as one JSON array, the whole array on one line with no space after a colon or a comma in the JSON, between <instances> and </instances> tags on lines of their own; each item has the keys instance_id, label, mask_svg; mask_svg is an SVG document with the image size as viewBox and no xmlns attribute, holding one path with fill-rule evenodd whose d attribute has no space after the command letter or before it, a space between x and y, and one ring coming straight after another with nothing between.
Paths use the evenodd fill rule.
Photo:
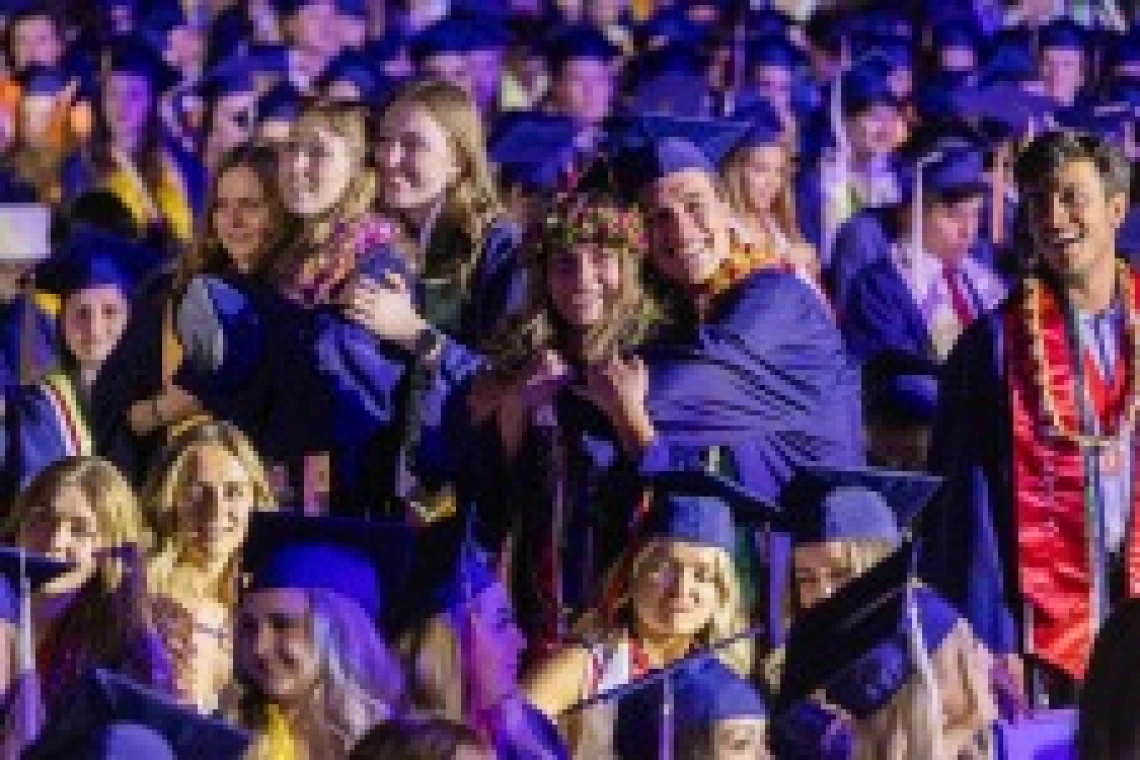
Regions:
<instances>
[{"instance_id":1,"label":"blonde woman in navy cap, arm extended, below the hugging couple","mask_svg":"<svg viewBox=\"0 0 1140 760\"><path fill-rule=\"evenodd\" d=\"M733 509L760 513L759 499L700 472L658 476L654 483L632 559L616 567L608 602L581 627L594 643L564 649L527 681L528 697L551 719L746 628L732 561ZM751 668L747 640L717 656L742 676ZM571 751L581 758L608 757L612 727L606 708L563 721Z\"/></svg>"}]
</instances>

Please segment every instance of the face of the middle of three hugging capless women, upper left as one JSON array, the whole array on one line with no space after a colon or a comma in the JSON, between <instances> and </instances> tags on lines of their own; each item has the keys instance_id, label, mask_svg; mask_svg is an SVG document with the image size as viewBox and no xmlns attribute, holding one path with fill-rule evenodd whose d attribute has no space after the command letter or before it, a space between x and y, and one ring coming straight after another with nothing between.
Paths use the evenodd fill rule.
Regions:
<instances>
[{"instance_id":1,"label":"face of the middle of three hugging capless women, upper left","mask_svg":"<svg viewBox=\"0 0 1140 760\"><path fill-rule=\"evenodd\" d=\"M301 121L280 152L280 189L285 206L301 216L333 209L360 171L349 140L328 125Z\"/></svg>"}]
</instances>

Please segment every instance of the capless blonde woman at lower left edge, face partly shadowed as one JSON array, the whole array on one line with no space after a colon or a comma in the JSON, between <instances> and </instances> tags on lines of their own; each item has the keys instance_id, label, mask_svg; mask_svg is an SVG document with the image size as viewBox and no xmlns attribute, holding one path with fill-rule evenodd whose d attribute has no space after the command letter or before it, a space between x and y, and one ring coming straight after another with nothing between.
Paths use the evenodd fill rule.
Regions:
<instances>
[{"instance_id":1,"label":"capless blonde woman at lower left edge, face partly shadowed","mask_svg":"<svg viewBox=\"0 0 1140 760\"><path fill-rule=\"evenodd\" d=\"M17 497L5 528L15 546L73 565L33 598L49 717L92 667L172 690L163 636L173 628L160 632L168 619L150 608L138 501L114 466L97 457L49 465Z\"/></svg>"}]
</instances>

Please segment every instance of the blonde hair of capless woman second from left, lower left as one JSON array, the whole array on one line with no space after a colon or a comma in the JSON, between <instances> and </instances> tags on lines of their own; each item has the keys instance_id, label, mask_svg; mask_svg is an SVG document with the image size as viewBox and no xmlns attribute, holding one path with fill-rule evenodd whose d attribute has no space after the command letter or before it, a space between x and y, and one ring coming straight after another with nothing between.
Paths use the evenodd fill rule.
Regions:
<instances>
[{"instance_id":1,"label":"blonde hair of capless woman second from left, lower left","mask_svg":"<svg viewBox=\"0 0 1140 760\"><path fill-rule=\"evenodd\" d=\"M154 536L155 553L149 563L149 580L156 593L162 593L168 587L181 556L184 547L179 541L179 489L185 482L192 456L205 446L221 447L242 464L253 487L254 509L277 508L261 459L237 427L227 422L203 420L179 433L163 449L142 490L146 521ZM239 557L235 553L227 563L219 585L219 600L227 606L233 606L237 600L238 573Z\"/></svg>"}]
</instances>

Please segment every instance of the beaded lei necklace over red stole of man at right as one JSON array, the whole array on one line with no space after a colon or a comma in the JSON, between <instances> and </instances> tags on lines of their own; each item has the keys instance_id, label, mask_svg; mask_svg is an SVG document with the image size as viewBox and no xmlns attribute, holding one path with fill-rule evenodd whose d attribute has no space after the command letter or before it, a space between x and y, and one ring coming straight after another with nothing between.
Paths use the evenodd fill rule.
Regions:
<instances>
[{"instance_id":1,"label":"beaded lei necklace over red stole of man at right","mask_svg":"<svg viewBox=\"0 0 1140 760\"><path fill-rule=\"evenodd\" d=\"M1029 326L1029 354L1033 361L1033 377L1041 387L1041 407L1049 420L1050 427L1062 439L1075 443L1082 449L1104 448L1117 441L1122 432L1133 427L1137 412L1140 411L1140 389L1137 387L1137 378L1140 377L1140 316L1137 314L1135 303L1132 293L1132 277L1127 264L1117 263L1117 281L1119 283L1121 299L1124 302L1125 330L1127 333L1129 357L1125 363L1127 377L1127 399L1117 422L1116 430L1108 435L1091 435L1074 430L1065 424L1058 411L1057 391L1053 387L1053 377L1049 371L1045 361L1045 338L1041 327L1042 303L1047 297L1044 287L1035 277L1026 278L1025 311ZM1074 371L1083 371L1081 367Z\"/></svg>"}]
</instances>

